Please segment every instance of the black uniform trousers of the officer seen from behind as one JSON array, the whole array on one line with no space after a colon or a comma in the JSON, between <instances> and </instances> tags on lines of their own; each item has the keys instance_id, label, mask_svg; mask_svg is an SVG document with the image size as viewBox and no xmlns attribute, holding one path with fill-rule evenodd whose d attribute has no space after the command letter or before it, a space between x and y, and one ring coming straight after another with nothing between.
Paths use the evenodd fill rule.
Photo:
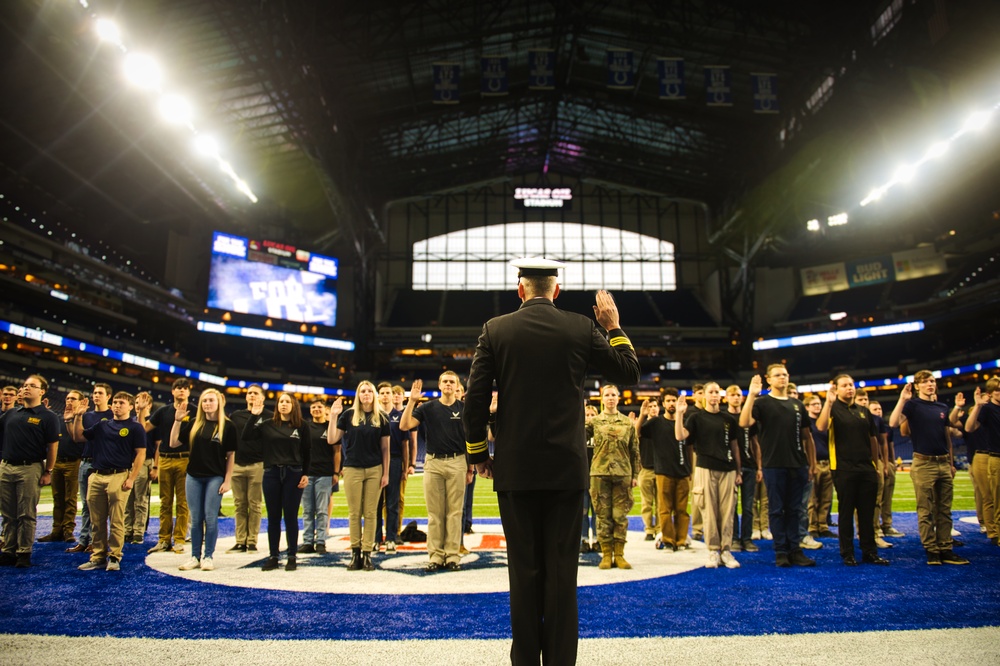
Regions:
<instances>
[{"instance_id":1,"label":"black uniform trousers of the officer seen from behind","mask_svg":"<svg viewBox=\"0 0 1000 666\"><path fill-rule=\"evenodd\" d=\"M510 579L512 666L575 664L584 490L498 492Z\"/></svg>"}]
</instances>

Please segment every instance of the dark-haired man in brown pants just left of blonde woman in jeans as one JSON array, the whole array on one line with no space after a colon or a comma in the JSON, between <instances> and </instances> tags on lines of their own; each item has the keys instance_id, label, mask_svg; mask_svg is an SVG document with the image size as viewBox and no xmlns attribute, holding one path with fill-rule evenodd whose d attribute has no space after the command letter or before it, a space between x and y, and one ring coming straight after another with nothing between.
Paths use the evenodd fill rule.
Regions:
<instances>
[{"instance_id":1,"label":"dark-haired man in brown pants just left of blonde woman in jeans","mask_svg":"<svg viewBox=\"0 0 1000 666\"><path fill-rule=\"evenodd\" d=\"M173 428L174 415L178 409L188 414L194 414L197 409L188 404L191 395L190 380L184 377L175 379L170 387L170 393L173 402L156 410L145 425L146 432L156 441L152 477L154 481L160 482L160 534L156 545L150 548L149 552L160 553L170 550L171 536L173 536L173 551L183 554L189 519L185 484L191 447L188 441L181 440L180 446L169 447L168 451L163 442L169 443L170 429Z\"/></svg>"}]
</instances>

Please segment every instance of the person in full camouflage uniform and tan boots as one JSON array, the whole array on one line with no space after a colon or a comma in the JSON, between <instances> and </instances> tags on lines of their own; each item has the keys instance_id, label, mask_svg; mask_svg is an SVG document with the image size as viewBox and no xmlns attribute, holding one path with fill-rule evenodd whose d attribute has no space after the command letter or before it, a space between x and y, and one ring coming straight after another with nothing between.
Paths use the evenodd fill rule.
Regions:
<instances>
[{"instance_id":1,"label":"person in full camouflage uniform and tan boots","mask_svg":"<svg viewBox=\"0 0 1000 666\"><path fill-rule=\"evenodd\" d=\"M632 510L632 488L639 483L639 438L632 421L618 411L618 387L601 389L604 410L587 423L587 436L594 441L590 464L590 497L597 514L597 540L602 558L599 568L631 569L625 559L628 512Z\"/></svg>"}]
</instances>

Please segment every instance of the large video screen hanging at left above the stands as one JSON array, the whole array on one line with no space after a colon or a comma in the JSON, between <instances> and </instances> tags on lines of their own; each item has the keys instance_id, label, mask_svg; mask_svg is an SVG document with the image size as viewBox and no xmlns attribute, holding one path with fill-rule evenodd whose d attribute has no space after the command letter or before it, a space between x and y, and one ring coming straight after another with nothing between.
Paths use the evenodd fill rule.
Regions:
<instances>
[{"instance_id":1,"label":"large video screen hanging at left above the stands","mask_svg":"<svg viewBox=\"0 0 1000 666\"><path fill-rule=\"evenodd\" d=\"M330 257L215 232L208 307L336 326L337 268Z\"/></svg>"}]
</instances>

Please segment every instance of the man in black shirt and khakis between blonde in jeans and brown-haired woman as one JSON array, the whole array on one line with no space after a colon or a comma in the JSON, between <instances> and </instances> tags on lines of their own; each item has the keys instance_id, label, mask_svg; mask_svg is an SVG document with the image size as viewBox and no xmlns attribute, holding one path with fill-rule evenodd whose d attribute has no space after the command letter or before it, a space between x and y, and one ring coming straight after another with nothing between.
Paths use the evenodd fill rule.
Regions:
<instances>
[{"instance_id":1,"label":"man in black shirt and khakis between blonde in jeans and brown-haired woman","mask_svg":"<svg viewBox=\"0 0 1000 666\"><path fill-rule=\"evenodd\" d=\"M236 544L229 553L246 553L257 550L257 535L260 533L260 505L264 497L264 450L262 440L244 440L243 430L247 421L257 418L251 412L256 407L263 408L264 389L260 384L247 387L247 408L238 409L229 415L236 430L236 457L233 462L233 507L236 518ZM260 418L269 421L274 413L262 409ZM340 470L337 470L338 472Z\"/></svg>"}]
</instances>

